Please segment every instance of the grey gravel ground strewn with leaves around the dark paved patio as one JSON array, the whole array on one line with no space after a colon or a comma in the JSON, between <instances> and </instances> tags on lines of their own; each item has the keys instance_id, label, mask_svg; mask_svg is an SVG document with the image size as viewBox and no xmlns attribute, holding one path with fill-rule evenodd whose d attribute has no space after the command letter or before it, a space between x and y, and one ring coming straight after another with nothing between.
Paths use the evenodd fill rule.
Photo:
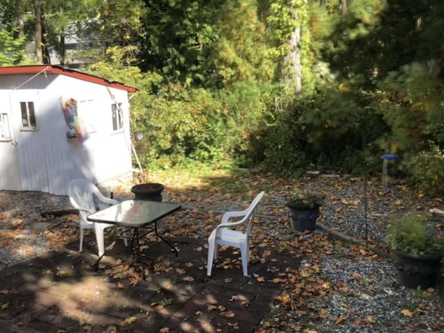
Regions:
<instances>
[{"instance_id":1,"label":"grey gravel ground strewn with leaves around the dark paved patio","mask_svg":"<svg viewBox=\"0 0 444 333\"><path fill-rule=\"evenodd\" d=\"M386 250L385 227L392 214L402 214L409 209L444 208L441 198L427 199L402 184L382 189L377 182L369 182L364 187L361 180L354 178L307 178L302 183L328 194L319 223L329 230L367 240L370 248L380 250ZM101 189L109 194L116 187L121 194L117 199L133 197L128 188L122 190L121 183L110 183ZM166 189L164 200L176 198L176 194ZM334 245L324 241L325 230L292 234L288 230L289 222L282 222L288 219L284 201L280 190L266 191L259 214L271 224L263 231L275 237L276 242L280 237L294 237L295 242L298 237L318 239L317 253L303 254L301 267L318 267L314 278L325 282L327 287L322 297L301 294L300 302L296 301L293 309L277 302L258 332L444 332L441 287L429 291L405 289L400 286L389 257L350 244ZM214 203L220 204L214 207ZM237 209L239 202L216 197L184 206L223 211ZM71 206L64 196L0 191L0 269L76 239L75 216L68 216L64 223L49 230L32 228L40 219L40 212L65 208ZM181 218L188 219L185 215ZM437 217L436 223L444 225L441 217Z\"/></svg>"}]
</instances>

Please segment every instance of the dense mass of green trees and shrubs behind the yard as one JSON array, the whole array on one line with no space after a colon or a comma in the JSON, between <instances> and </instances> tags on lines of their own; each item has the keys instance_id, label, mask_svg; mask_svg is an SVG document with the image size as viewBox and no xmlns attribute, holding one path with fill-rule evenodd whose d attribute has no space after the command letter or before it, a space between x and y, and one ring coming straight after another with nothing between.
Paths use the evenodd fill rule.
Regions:
<instances>
[{"instance_id":1,"label":"dense mass of green trees and shrubs behind the yard","mask_svg":"<svg viewBox=\"0 0 444 333\"><path fill-rule=\"evenodd\" d=\"M300 14L309 15L306 10L313 9L305 8L305 1L289 2L302 10ZM137 60L136 49L123 47L109 48L105 61L90 70L140 88L131 101L132 129L146 134L143 142L135 142L145 167L262 163L287 176L307 169L363 175L380 173L380 156L396 153L400 176L430 194L443 194L444 83L441 53L433 53L442 39L427 42L434 44L430 55L417 53L415 43L427 40L416 34L425 37L425 31L435 31L426 19L420 27L398 25L393 15L399 19L399 11L379 0L368 7L370 12L361 10L363 1L357 1L343 14L334 10L337 1L327 2L311 12L304 31L310 35L300 42L302 91L281 83L288 73L279 62L289 49L282 42L294 26L289 29L284 23L289 11L280 8L279 1L273 8L282 10L274 15L285 15L274 20L255 17L254 24L245 25L244 13L257 13L254 3L235 10L225 3L224 10L216 10L216 23L206 17L207 28L194 27L207 41L205 49L192 53L198 55L191 57L194 65L187 65L186 56L191 54L187 48L196 46L196 33L191 29L182 35L176 29L182 37L194 37L185 38L176 49L170 48L175 39L169 44L155 40L156 47L167 48L167 56L158 53L148 69L142 67L144 73L131 65ZM442 22L439 8L427 12L426 7L412 5L411 13L421 15L411 17L425 15ZM210 15L212 8L207 9ZM273 15L273 10L264 13ZM179 22L160 21L167 28ZM259 36L262 31L268 32ZM204 38L219 33L225 38L215 44L216 39Z\"/></svg>"}]
</instances>

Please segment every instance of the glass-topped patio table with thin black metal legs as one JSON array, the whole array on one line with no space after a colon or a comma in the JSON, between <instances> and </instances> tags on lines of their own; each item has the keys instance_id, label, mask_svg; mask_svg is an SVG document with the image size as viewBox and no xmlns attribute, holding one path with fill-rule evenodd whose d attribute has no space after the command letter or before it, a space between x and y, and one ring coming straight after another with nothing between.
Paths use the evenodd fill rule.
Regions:
<instances>
[{"instance_id":1,"label":"glass-topped patio table with thin black metal legs","mask_svg":"<svg viewBox=\"0 0 444 333\"><path fill-rule=\"evenodd\" d=\"M157 229L157 221L180 210L181 205L177 203L163 203L158 201L146 200L125 200L99 212L89 214L87 220L94 223L109 223L126 228L119 237L131 240L131 248L136 251L136 258L142 264L142 251L140 250L140 239L146 234L155 232L157 237L162 239L165 244L171 247L178 257L178 250L167 239L162 237ZM146 217L145 217L146 216ZM133 236L128 236L128 232L133 230ZM140 232L139 230L144 230ZM135 243L135 244L134 244ZM99 268L101 255L96 262L96 268ZM144 271L142 269L142 271Z\"/></svg>"}]
</instances>

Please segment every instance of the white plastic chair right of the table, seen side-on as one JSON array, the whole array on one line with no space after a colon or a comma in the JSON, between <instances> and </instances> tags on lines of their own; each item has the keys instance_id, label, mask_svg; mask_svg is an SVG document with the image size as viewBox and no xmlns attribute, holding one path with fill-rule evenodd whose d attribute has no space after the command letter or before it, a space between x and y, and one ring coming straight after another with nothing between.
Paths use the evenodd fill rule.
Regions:
<instances>
[{"instance_id":1,"label":"white plastic chair right of the table, seen side-on","mask_svg":"<svg viewBox=\"0 0 444 333\"><path fill-rule=\"evenodd\" d=\"M250 260L250 230L253 225L253 219L257 210L257 204L264 196L264 191L259 193L255 200L246 210L239 212L226 212L222 216L222 223L219 224L208 237L208 259L207 259L207 275L211 276L214 259L217 259L219 253L219 245L234 246L241 250L242 271L244 276L248 276L248 262ZM230 222L233 217L241 218L238 221ZM244 232L233 230L246 223Z\"/></svg>"}]
</instances>

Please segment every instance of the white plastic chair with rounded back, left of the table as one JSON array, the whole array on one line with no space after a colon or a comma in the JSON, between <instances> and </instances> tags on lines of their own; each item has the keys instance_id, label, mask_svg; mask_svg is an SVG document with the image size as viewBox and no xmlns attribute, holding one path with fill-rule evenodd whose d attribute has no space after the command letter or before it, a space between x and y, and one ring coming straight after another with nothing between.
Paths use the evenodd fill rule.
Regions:
<instances>
[{"instance_id":1,"label":"white plastic chair with rounded back, left of the table","mask_svg":"<svg viewBox=\"0 0 444 333\"><path fill-rule=\"evenodd\" d=\"M108 223L94 223L87 220L87 215L92 214L99 210L119 203L119 201L106 198L101 194L99 189L92 182L86 179L74 179L69 182L69 201L79 212L80 223L80 247L79 252L83 250L83 230L94 229L96 234L97 248L99 248L99 258L105 253L105 244L103 240L103 230L105 228L115 227L116 225ZM94 196L97 200L97 205L94 202ZM125 239L125 245L127 246L127 240Z\"/></svg>"}]
</instances>

